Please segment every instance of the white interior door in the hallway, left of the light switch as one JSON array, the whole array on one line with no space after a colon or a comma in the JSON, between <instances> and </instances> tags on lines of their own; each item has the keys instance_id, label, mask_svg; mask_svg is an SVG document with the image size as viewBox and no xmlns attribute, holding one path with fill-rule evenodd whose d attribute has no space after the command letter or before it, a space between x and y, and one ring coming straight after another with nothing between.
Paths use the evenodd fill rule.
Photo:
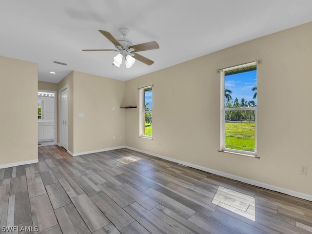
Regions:
<instances>
[{"instance_id":1,"label":"white interior door in the hallway, left of the light switch","mask_svg":"<svg viewBox=\"0 0 312 234\"><path fill-rule=\"evenodd\" d=\"M60 91L60 145L68 147L68 102L67 88Z\"/></svg>"}]
</instances>

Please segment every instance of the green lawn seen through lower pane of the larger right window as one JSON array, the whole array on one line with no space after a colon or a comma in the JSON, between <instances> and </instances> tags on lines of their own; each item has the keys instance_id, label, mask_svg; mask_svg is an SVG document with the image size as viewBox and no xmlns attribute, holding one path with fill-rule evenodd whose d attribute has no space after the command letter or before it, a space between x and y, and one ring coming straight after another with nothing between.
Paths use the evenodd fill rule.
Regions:
<instances>
[{"instance_id":1,"label":"green lawn seen through lower pane of the larger right window","mask_svg":"<svg viewBox=\"0 0 312 234\"><path fill-rule=\"evenodd\" d=\"M225 147L254 152L254 123L225 123Z\"/></svg>"}]
</instances>

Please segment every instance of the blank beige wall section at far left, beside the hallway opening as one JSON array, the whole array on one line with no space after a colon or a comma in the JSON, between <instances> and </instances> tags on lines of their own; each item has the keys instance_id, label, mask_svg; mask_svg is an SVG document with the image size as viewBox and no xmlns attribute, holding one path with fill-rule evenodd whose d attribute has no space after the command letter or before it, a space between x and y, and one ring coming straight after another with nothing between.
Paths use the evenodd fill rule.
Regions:
<instances>
[{"instance_id":1,"label":"blank beige wall section at far left, beside the hallway opening","mask_svg":"<svg viewBox=\"0 0 312 234\"><path fill-rule=\"evenodd\" d=\"M0 167L38 160L37 63L0 56Z\"/></svg>"}]
</instances>

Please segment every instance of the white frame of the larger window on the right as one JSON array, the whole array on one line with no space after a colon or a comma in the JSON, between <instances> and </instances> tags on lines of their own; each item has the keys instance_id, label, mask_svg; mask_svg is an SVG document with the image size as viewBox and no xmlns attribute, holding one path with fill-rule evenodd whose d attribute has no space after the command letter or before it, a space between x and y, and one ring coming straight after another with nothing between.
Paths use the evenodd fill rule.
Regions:
<instances>
[{"instance_id":1,"label":"white frame of the larger window on the right","mask_svg":"<svg viewBox=\"0 0 312 234\"><path fill-rule=\"evenodd\" d=\"M250 156L257 156L257 107L253 106L253 107L239 107L239 108L225 108L224 106L224 78L225 78L225 72L229 71L229 70L234 70L234 69L238 69L238 68L242 68L242 67L248 67L248 66L252 66L252 65L257 65L259 64L259 61L254 61L254 62L250 62L250 63L245 63L245 64L241 64L241 65L237 65L237 66L233 66L233 67L228 67L228 68L223 68L218 70L221 74L221 114L220 114L220 123L221 123L221 134L220 134L220 145L221 145L221 151L225 151L225 152L233 152L233 153L237 153L237 154L242 154L242 155L250 155ZM257 72L257 77L258 77L258 72ZM258 78L257 78L257 83L258 83ZM226 148L225 147L225 112L226 111L251 111L254 110L255 111L255 117L254 117L254 122L255 122L255 144L254 144L254 152L250 152L250 151L244 151L244 150L236 150L236 149L231 149L231 148Z\"/></svg>"}]
</instances>

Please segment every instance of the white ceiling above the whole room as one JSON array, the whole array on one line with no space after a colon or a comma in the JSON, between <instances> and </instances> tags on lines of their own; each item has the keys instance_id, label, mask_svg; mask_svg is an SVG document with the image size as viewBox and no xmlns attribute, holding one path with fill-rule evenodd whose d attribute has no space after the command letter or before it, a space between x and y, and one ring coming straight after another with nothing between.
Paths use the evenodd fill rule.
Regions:
<instances>
[{"instance_id":1,"label":"white ceiling above the whole room","mask_svg":"<svg viewBox=\"0 0 312 234\"><path fill-rule=\"evenodd\" d=\"M129 80L310 22L311 10L312 0L1 0L0 56L37 62L41 81L58 83L72 70ZM138 52L153 65L118 68L117 52L81 51L115 49L98 30L121 38L120 27L133 44L158 42Z\"/></svg>"}]
</instances>

